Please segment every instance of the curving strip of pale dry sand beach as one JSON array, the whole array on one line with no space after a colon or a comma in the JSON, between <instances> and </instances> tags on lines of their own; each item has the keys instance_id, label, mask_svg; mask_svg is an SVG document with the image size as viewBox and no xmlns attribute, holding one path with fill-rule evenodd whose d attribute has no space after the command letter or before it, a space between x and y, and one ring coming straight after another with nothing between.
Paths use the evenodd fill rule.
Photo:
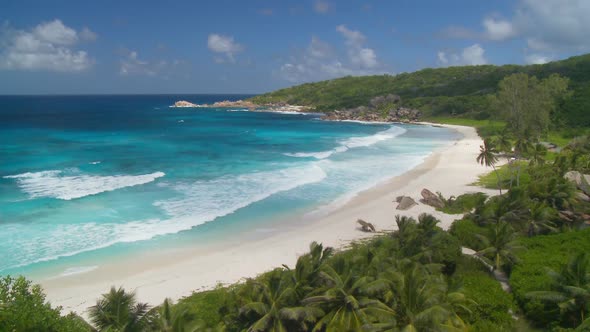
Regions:
<instances>
[{"instance_id":1,"label":"curving strip of pale dry sand beach","mask_svg":"<svg viewBox=\"0 0 590 332\"><path fill-rule=\"evenodd\" d=\"M446 215L423 204L408 211L395 209L395 197L406 195L418 201L423 188L440 191L446 197L476 191L495 193L470 186L478 175L490 171L475 161L481 144L475 129L445 127L457 130L463 138L435 151L418 167L359 193L328 212L292 217L293 220L281 222L284 227L265 234L233 234L218 245L154 250L143 257L114 261L86 273L34 281L41 283L53 305L63 306L65 312L85 315L100 294L113 285L135 290L140 301L158 305L166 297L177 300L194 290L234 283L281 264L293 266L312 241L342 248L350 241L371 236L358 229L358 218L373 223L378 231L392 230L395 215L417 217L426 212L439 218L440 226L446 229L460 216Z\"/></svg>"}]
</instances>

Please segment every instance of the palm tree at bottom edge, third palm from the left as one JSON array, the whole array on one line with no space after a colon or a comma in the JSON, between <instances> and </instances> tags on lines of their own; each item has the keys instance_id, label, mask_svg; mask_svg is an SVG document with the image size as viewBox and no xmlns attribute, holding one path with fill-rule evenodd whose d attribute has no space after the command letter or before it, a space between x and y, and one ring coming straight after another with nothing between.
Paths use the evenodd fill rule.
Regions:
<instances>
[{"instance_id":1,"label":"palm tree at bottom edge, third palm from the left","mask_svg":"<svg viewBox=\"0 0 590 332\"><path fill-rule=\"evenodd\" d=\"M318 308L295 307L296 294L284 272L275 269L262 281L248 281L252 298L239 310L241 317L252 322L248 332L307 330L323 314Z\"/></svg>"}]
</instances>

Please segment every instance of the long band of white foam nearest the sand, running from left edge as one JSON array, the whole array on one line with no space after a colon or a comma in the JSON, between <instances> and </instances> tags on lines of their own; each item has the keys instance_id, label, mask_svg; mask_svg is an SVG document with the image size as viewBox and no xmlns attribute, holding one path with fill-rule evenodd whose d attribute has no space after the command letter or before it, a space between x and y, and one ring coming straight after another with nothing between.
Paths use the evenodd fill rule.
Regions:
<instances>
[{"instance_id":1,"label":"long band of white foam nearest the sand, running from left edge","mask_svg":"<svg viewBox=\"0 0 590 332\"><path fill-rule=\"evenodd\" d=\"M22 178L28 177L29 175L22 175ZM312 164L207 181L169 184L168 188L178 191L182 197L154 203L170 215L169 219L154 218L125 223L97 220L83 224L47 225L45 230L35 232L35 235L29 233L26 237L22 235L27 234L27 225L11 224L0 234L0 252L6 250L14 255L10 261L0 260L0 271L69 257L118 243L150 240L156 236L189 230L276 193L319 182L325 177L323 169Z\"/></svg>"}]
</instances>

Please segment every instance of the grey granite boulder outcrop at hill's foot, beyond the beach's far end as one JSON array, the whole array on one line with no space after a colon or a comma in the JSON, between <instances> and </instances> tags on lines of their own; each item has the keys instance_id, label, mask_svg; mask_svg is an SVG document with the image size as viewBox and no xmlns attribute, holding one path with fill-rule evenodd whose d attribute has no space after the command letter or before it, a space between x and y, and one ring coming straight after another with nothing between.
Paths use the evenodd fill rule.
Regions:
<instances>
[{"instance_id":1,"label":"grey granite boulder outcrop at hill's foot, beyond the beach's far end","mask_svg":"<svg viewBox=\"0 0 590 332\"><path fill-rule=\"evenodd\" d=\"M335 110L322 117L324 120L354 120L354 121L384 121L384 122L413 122L417 121L421 112L416 109L399 105L401 98L398 95L374 97L368 106Z\"/></svg>"}]
</instances>

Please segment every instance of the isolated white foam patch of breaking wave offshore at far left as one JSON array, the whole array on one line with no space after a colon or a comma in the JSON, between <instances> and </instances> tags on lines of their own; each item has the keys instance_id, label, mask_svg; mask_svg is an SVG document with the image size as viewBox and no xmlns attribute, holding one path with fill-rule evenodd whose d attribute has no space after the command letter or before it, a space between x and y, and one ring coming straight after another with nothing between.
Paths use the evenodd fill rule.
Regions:
<instances>
[{"instance_id":1,"label":"isolated white foam patch of breaking wave offshore at far left","mask_svg":"<svg viewBox=\"0 0 590 332\"><path fill-rule=\"evenodd\" d=\"M20 189L28 194L31 199L51 197L72 200L106 191L146 184L165 175L163 172L110 176L69 175L69 173L71 171L64 174L63 171L51 170L9 175L4 178L15 179Z\"/></svg>"}]
</instances>

